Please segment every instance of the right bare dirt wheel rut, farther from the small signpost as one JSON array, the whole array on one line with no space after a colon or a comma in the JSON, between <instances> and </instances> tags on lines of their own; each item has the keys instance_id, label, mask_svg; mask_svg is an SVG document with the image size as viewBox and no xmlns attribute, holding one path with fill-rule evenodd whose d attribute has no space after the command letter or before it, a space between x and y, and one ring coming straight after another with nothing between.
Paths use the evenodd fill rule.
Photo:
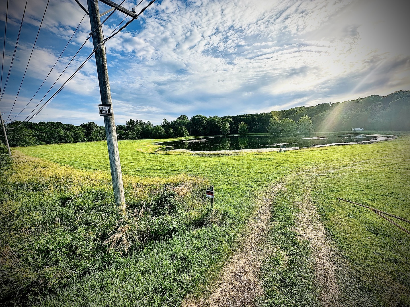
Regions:
<instances>
[{"instance_id":1,"label":"right bare dirt wheel rut, farther from the small signpost","mask_svg":"<svg viewBox=\"0 0 410 307\"><path fill-rule=\"evenodd\" d=\"M300 237L312 242L315 257L315 277L323 306L337 306L339 287L336 284L336 266L332 261L330 241L315 206L306 196L298 203L301 212L296 217L295 230Z\"/></svg>"}]
</instances>

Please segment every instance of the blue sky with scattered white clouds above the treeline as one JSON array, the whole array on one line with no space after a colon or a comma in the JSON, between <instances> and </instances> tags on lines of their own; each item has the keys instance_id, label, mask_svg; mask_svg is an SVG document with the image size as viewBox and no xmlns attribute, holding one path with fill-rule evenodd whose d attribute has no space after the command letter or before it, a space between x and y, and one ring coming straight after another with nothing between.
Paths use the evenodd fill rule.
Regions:
<instances>
[{"instance_id":1,"label":"blue sky with scattered white clouds above the treeline","mask_svg":"<svg viewBox=\"0 0 410 307\"><path fill-rule=\"evenodd\" d=\"M9 113L16 99L46 3L27 0L2 112ZM136 3L127 0L123 6ZM0 46L5 4L2 0ZM9 0L2 87L24 5L25 0ZM100 4L100 12L108 8ZM409 90L409 8L404 0L157 0L106 44L116 124L269 112ZM32 98L83 16L74 0L50 0L11 118ZM114 13L103 25L105 36L124 17ZM86 16L39 93L13 120L24 120L33 110L89 32ZM55 90L91 50L90 40ZM102 125L99 103L92 58L32 121Z\"/></svg>"}]
</instances>

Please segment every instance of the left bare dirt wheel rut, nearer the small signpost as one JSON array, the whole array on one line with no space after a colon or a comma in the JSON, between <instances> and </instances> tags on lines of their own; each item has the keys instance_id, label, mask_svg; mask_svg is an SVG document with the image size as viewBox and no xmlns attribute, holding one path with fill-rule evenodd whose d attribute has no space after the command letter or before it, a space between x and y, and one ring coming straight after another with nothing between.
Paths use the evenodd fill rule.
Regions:
<instances>
[{"instance_id":1,"label":"left bare dirt wheel rut, nearer the small signpost","mask_svg":"<svg viewBox=\"0 0 410 307\"><path fill-rule=\"evenodd\" d=\"M259 242L263 239L264 231L271 217L271 204L279 190L285 190L285 187L272 185L261 196L257 217L248 224L246 244L225 267L216 289L208 298L185 300L181 304L182 307L255 306L255 298L263 294L257 275L264 254L266 254L266 251L261 251Z\"/></svg>"}]
</instances>

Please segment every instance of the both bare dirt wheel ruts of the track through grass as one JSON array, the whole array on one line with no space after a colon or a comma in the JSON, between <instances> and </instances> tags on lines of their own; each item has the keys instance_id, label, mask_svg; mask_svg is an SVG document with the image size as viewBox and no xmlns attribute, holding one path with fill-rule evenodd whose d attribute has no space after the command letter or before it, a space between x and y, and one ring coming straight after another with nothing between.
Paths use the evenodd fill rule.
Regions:
<instances>
[{"instance_id":1,"label":"both bare dirt wheel ruts of the track through grass","mask_svg":"<svg viewBox=\"0 0 410 307\"><path fill-rule=\"evenodd\" d=\"M182 307L231 307L231 306L256 306L255 298L263 295L262 285L258 273L264 256L272 253L272 248L262 248L264 233L271 217L271 204L279 190L286 191L282 185L272 185L263 195L260 195L260 206L257 217L248 224L248 236L245 245L232 260L219 279L216 289L204 299L187 298L182 302ZM337 306L339 287L335 278L335 264L333 263L330 241L326 230L320 221L316 207L305 196L303 202L298 203L301 212L295 220L292 230L296 231L301 239L312 242L315 258L315 279L323 306Z\"/></svg>"}]
</instances>

